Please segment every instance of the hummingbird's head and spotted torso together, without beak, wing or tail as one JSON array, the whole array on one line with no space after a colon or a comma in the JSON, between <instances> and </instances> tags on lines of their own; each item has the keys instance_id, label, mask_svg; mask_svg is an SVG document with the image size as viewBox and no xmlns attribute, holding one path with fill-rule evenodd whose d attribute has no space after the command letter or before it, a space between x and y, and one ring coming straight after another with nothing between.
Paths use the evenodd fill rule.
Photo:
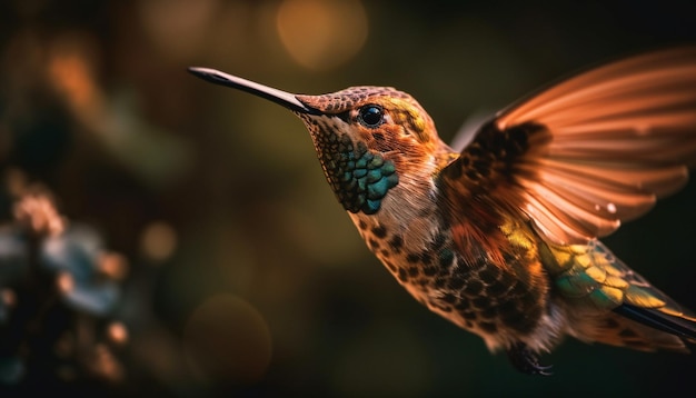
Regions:
<instances>
[{"instance_id":1,"label":"hummingbird's head and spotted torso together, without beak, wing or tail","mask_svg":"<svg viewBox=\"0 0 696 398\"><path fill-rule=\"evenodd\" d=\"M404 105L394 101L395 98L410 99L394 89L375 87L351 88L324 101L321 97L299 97L312 108L327 112L327 105L339 111L359 108L361 103L354 101L356 92L370 93L364 101L377 102L385 109L394 109L395 102ZM410 101L414 105L409 107L419 108L417 102ZM359 117L357 115L341 118L300 115L300 118L311 133L329 186L368 248L416 300L480 335L490 349L507 349L520 336L528 336L527 345L535 349L550 347L559 335L556 324L560 320L550 319L543 310L547 305L548 286L528 226L514 222L513 218L491 219L489 225L480 226L488 233L506 228L509 237L498 237L506 240L498 257L505 252L507 263L486 252L485 239L466 242L466 251L457 248L448 213L467 217L468 211L459 208L444 211L458 205L447 201L441 171L459 155L437 137L425 111L416 112L415 118L421 120L411 121L412 117L395 112L395 118L405 120L412 132L407 136L412 138L410 146L406 139L397 150L392 149L397 147L394 138L387 143L384 140L389 133L399 132L385 132L385 138L376 139L368 127L359 121L351 122L351 118ZM344 131L352 133L341 133ZM385 153L385 145L392 156ZM421 150L421 146L431 149ZM369 160L360 162L366 158ZM386 176L384 169L402 171ZM376 176L370 179L371 173ZM370 189L370 183L381 181L389 188ZM483 223L480 218L470 216ZM551 328L541 328L536 336L533 331L541 321L550 322Z\"/></svg>"}]
</instances>

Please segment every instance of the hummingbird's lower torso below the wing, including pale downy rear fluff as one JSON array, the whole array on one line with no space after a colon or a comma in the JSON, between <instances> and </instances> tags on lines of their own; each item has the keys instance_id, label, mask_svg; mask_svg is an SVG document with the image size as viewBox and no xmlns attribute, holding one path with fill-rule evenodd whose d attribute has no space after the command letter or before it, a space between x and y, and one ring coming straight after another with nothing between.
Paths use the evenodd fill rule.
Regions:
<instances>
[{"instance_id":1,"label":"hummingbird's lower torso below the wing, including pale downy rear fluff","mask_svg":"<svg viewBox=\"0 0 696 398\"><path fill-rule=\"evenodd\" d=\"M351 218L358 219L368 247L416 300L481 336L489 349L509 349L523 341L535 350L553 347L564 319L556 309L546 311L548 286L534 252L536 242L510 241L505 248L510 261L501 269L477 242L469 250L481 256L477 261L465 259L447 223L432 223L441 215L422 215L414 223L392 229L385 227L389 220L369 223L358 216ZM411 229L414 225L419 228ZM514 222L506 227L516 229L513 239L529 231Z\"/></svg>"}]
</instances>

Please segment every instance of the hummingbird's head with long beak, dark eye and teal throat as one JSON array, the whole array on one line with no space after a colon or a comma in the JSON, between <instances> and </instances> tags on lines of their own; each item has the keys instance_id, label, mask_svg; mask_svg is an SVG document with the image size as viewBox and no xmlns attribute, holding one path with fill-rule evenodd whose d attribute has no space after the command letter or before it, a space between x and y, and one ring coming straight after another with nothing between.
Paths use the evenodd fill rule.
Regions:
<instances>
[{"instance_id":1,"label":"hummingbird's head with long beak, dark eye and teal throat","mask_svg":"<svg viewBox=\"0 0 696 398\"><path fill-rule=\"evenodd\" d=\"M344 208L377 213L395 196L419 200L453 152L432 119L409 94L386 87L351 87L338 92L292 94L217 70L191 68L208 81L233 87L290 109L312 138L325 176ZM429 178L428 178L429 177ZM391 200L398 211L398 201Z\"/></svg>"}]
</instances>

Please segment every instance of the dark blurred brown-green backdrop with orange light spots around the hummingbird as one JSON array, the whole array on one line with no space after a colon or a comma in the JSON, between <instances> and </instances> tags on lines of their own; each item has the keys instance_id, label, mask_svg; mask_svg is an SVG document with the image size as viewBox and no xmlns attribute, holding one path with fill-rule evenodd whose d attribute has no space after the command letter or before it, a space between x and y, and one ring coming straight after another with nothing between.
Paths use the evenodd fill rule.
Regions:
<instances>
[{"instance_id":1,"label":"dark blurred brown-green backdrop with orange light spots around the hummingbird","mask_svg":"<svg viewBox=\"0 0 696 398\"><path fill-rule=\"evenodd\" d=\"M4 0L0 166L128 262L119 382L162 396L693 394L696 357L567 340L550 378L412 300L336 202L287 110L205 83L394 86L451 138L569 72L693 43L690 1ZM10 176L10 177L8 177ZM20 178L21 179L21 178ZM696 308L696 183L605 242ZM2 222L10 222L10 200ZM86 387L87 386L87 387ZM689 392L692 391L692 392Z\"/></svg>"}]
</instances>

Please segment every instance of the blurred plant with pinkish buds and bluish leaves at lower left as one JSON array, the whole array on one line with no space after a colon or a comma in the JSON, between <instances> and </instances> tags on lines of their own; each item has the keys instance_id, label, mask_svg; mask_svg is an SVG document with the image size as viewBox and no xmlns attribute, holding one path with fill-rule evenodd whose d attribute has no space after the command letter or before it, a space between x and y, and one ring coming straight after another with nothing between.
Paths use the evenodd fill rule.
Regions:
<instances>
[{"instance_id":1,"label":"blurred plant with pinkish buds and bluish leaves at lower left","mask_svg":"<svg viewBox=\"0 0 696 398\"><path fill-rule=\"evenodd\" d=\"M0 227L0 382L17 391L74 380L121 381L113 349L126 327L109 319L127 265L98 235L69 225L50 193L8 173L14 222ZM18 181L20 180L20 181Z\"/></svg>"}]
</instances>

